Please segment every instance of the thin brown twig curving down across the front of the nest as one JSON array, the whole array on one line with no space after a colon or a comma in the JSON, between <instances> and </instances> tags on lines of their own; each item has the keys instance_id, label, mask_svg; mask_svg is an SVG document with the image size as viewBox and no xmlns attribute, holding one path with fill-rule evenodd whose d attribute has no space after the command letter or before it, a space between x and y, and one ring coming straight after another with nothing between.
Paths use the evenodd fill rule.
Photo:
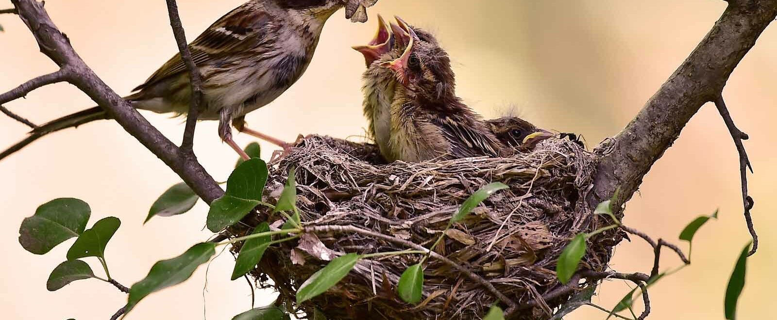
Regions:
<instances>
[{"instance_id":1,"label":"thin brown twig curving down across the front of the nest","mask_svg":"<svg viewBox=\"0 0 777 320\"><path fill-rule=\"evenodd\" d=\"M470 280L475 281L476 283L479 283L483 287L486 287L486 290L488 290L491 294L494 295L494 297L497 297L500 301L510 306L510 308L507 309L507 315L510 315L513 311L516 310L517 304L515 304L515 301L510 300L509 297L502 294L499 290L497 290L496 287L493 287L493 284L488 282L488 280L483 279L483 277L478 276L476 273L473 273L472 271L468 270L467 268L459 265L458 263L455 263L453 260L448 259L444 256L441 256L437 252L431 251L429 249L426 249L423 247L423 245L417 245L413 242L409 242L406 240L402 240L400 238L392 237L391 235L383 235L378 232L368 231L361 228L356 228L352 225L325 225L325 226L312 226L312 227L305 227L303 228L303 231L305 232L314 232L314 233L322 233L322 232L344 232L344 233L356 233L359 235L367 235L373 238L381 238L388 242L394 242L399 245L404 245L409 248L413 248L416 250L421 250L423 252L431 252L431 257L437 260L440 260L442 263L447 264L448 266L453 267L454 269L458 270L461 273L464 273L465 276L469 277ZM507 317L509 318L509 316Z\"/></svg>"}]
</instances>

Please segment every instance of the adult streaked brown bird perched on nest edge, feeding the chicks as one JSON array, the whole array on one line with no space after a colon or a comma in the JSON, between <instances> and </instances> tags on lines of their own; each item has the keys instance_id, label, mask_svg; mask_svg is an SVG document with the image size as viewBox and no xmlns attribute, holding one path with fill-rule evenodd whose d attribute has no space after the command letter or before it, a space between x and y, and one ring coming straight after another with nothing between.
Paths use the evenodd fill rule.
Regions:
<instances>
[{"instance_id":1,"label":"adult streaked brown bird perched on nest edge, feeding the chicks","mask_svg":"<svg viewBox=\"0 0 777 320\"><path fill-rule=\"evenodd\" d=\"M218 120L218 135L242 158L248 155L232 140L240 132L270 141L288 151L290 145L251 130L246 113L272 102L308 68L329 16L349 4L347 18L364 19L364 7L375 0L251 0L222 16L189 44L202 74L204 107L199 120ZM134 108L184 115L190 106L190 83L180 54L163 64L127 99ZM61 117L37 127L24 141L0 153L0 159L45 134L108 119L101 107Z\"/></svg>"}]
</instances>

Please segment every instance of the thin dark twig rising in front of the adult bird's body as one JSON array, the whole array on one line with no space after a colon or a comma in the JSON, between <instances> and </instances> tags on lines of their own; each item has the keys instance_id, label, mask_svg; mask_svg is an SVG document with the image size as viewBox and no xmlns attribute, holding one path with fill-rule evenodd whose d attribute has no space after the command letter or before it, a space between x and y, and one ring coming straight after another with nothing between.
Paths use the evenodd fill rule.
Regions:
<instances>
[{"instance_id":1,"label":"thin dark twig rising in front of the adult bird's body","mask_svg":"<svg viewBox=\"0 0 777 320\"><path fill-rule=\"evenodd\" d=\"M197 117L200 113L200 105L202 104L202 76L200 75L200 69L194 64L192 60L192 54L189 51L189 44L186 42L186 33L181 26L181 18L178 15L178 5L176 0L166 0L167 11L170 16L170 26L172 26L172 34L176 37L176 43L178 43L178 50L181 54L183 63L186 64L186 69L189 70L189 84L191 85L191 105L189 106L189 114L186 117L186 129L183 130L183 142L179 151L186 156L193 156L194 145L194 128L197 127Z\"/></svg>"}]
</instances>

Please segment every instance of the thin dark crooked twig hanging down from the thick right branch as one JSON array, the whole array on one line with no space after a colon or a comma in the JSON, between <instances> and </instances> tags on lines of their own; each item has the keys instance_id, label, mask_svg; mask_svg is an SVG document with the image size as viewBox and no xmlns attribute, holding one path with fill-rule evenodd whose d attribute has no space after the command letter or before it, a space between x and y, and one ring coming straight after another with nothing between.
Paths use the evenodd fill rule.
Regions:
<instances>
[{"instance_id":1,"label":"thin dark crooked twig hanging down from the thick right branch","mask_svg":"<svg viewBox=\"0 0 777 320\"><path fill-rule=\"evenodd\" d=\"M744 221L747 222L747 230L750 231L750 235L753 237L753 247L750 249L748 256L752 256L758 249L758 235L755 233L753 226L753 217L750 215L750 210L753 208L753 198L747 194L747 169L753 173L753 166L750 164L750 158L747 158L747 151L744 150L743 140L747 140L750 137L744 132L739 130L731 119L731 114L728 112L726 102L723 101L723 95L719 95L715 98L715 106L718 108L720 117L723 117L723 122L726 123L733 144L737 146L737 152L739 153L739 173L742 180L742 203L744 204Z\"/></svg>"}]
</instances>

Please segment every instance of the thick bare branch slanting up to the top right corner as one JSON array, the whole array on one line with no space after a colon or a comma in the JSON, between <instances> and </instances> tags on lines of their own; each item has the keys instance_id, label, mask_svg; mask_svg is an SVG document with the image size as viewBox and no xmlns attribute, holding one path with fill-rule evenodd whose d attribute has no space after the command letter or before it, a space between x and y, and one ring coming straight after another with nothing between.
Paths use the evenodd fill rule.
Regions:
<instances>
[{"instance_id":1,"label":"thick bare branch slanting up to the top right corner","mask_svg":"<svg viewBox=\"0 0 777 320\"><path fill-rule=\"evenodd\" d=\"M591 208L616 189L621 197L615 207L632 197L691 117L720 96L733 69L775 16L777 2L772 0L729 1L713 29L615 137L613 151L598 164L588 199Z\"/></svg>"}]
</instances>

